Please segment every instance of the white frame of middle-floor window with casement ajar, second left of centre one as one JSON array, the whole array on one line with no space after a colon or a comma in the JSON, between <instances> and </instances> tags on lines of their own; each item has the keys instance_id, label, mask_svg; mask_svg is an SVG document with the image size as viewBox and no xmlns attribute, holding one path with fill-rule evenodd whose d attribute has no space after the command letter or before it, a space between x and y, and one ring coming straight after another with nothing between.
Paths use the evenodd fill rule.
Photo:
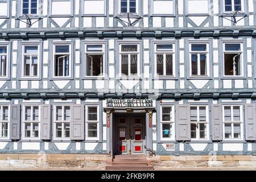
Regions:
<instances>
[{"instance_id":1,"label":"white frame of middle-floor window with casement ajar, second left of centre one","mask_svg":"<svg viewBox=\"0 0 256 182\"><path fill-rule=\"evenodd\" d=\"M63 53L55 53L56 46L69 46L69 52L63 52ZM65 79L72 79L72 69L73 69L73 44L71 42L63 42L63 43L52 43L52 79L59 79L59 80L65 80ZM55 55L69 55L69 76L55 76ZM63 66L63 75L64 75L65 67Z\"/></svg>"}]
</instances>

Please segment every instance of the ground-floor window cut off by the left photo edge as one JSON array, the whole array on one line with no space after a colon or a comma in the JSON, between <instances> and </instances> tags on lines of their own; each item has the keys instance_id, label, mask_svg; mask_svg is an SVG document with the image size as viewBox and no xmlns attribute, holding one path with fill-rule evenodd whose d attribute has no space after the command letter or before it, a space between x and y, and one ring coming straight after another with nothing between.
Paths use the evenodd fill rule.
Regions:
<instances>
[{"instance_id":1,"label":"ground-floor window cut off by the left photo edge","mask_svg":"<svg viewBox=\"0 0 256 182\"><path fill-rule=\"evenodd\" d=\"M0 139L9 138L9 106L0 106Z\"/></svg>"}]
</instances>

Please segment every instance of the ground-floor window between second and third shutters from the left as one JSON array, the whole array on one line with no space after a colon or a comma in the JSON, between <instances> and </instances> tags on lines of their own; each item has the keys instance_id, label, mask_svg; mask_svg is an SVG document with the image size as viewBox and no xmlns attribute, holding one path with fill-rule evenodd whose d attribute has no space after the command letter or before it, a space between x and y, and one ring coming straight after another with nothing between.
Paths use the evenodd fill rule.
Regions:
<instances>
[{"instance_id":1,"label":"ground-floor window between second and third shutters from the left","mask_svg":"<svg viewBox=\"0 0 256 182\"><path fill-rule=\"evenodd\" d=\"M55 138L70 137L70 106L55 106Z\"/></svg>"}]
</instances>

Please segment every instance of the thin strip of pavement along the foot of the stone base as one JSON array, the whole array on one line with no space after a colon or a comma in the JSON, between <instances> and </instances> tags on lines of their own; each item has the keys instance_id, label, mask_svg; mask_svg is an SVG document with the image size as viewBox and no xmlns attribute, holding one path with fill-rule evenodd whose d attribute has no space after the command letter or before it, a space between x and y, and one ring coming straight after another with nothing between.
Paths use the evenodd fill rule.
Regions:
<instances>
[{"instance_id":1,"label":"thin strip of pavement along the foot of the stone base","mask_svg":"<svg viewBox=\"0 0 256 182\"><path fill-rule=\"evenodd\" d=\"M105 171L104 168L0 168L0 171ZM155 171L256 171L244 167L155 168Z\"/></svg>"}]
</instances>

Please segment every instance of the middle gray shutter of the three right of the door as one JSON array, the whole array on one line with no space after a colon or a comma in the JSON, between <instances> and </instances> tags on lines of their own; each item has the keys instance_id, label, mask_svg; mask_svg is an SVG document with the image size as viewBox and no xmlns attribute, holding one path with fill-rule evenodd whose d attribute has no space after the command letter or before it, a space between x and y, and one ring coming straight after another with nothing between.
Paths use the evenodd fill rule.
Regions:
<instances>
[{"instance_id":1,"label":"middle gray shutter of the three right of the door","mask_svg":"<svg viewBox=\"0 0 256 182\"><path fill-rule=\"evenodd\" d=\"M212 140L222 140L222 107L212 105Z\"/></svg>"}]
</instances>

